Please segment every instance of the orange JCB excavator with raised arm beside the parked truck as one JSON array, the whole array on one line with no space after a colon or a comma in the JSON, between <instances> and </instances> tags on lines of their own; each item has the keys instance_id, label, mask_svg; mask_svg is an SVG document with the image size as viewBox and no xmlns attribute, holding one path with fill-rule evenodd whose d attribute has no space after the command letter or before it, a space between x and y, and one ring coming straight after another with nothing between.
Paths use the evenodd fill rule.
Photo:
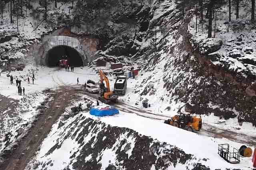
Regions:
<instances>
[{"instance_id":1,"label":"orange JCB excavator with raised arm beside the parked truck","mask_svg":"<svg viewBox=\"0 0 256 170\"><path fill-rule=\"evenodd\" d=\"M106 82L106 86L104 84ZM110 90L108 77L100 70L100 97L99 100L103 103L115 102L118 103L118 95Z\"/></svg>"}]
</instances>

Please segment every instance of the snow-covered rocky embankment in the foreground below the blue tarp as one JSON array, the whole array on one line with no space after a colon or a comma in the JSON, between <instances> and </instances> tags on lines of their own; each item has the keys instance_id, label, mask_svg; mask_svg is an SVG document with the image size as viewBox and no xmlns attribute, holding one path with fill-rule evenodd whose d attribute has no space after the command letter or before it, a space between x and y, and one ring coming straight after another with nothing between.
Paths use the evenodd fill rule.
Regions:
<instances>
[{"instance_id":1,"label":"snow-covered rocky embankment in the foreground below the blue tarp","mask_svg":"<svg viewBox=\"0 0 256 170\"><path fill-rule=\"evenodd\" d=\"M71 113L68 111L66 114L70 115ZM61 127L60 121L63 123ZM193 169L196 163L200 163L209 166L210 169L249 169L250 158L241 158L240 164L232 165L218 156L218 144L230 143L230 141L199 136L133 114L120 112L119 115L99 118L84 112L67 120L62 118L60 121L52 127L52 131L43 141L36 158L31 161L31 167L37 164L36 169L45 167L51 170L105 169L114 165L117 168L136 167L135 169L137 169L141 166L140 164L144 164L144 168L149 166L146 169L153 167L173 169L175 167L174 169L181 170L184 167ZM153 140L154 138L157 140ZM144 142L140 142L140 140ZM235 142L230 144L234 147L240 146ZM180 154L176 154L179 159L170 159L172 157L170 150L174 149L172 145L182 148L185 153L193 156L190 157L191 155L186 155L183 151L178 151L179 149L175 148L175 152L180 152ZM88 150L88 148L91 149ZM153 152L153 157L155 155L156 158L146 157L150 152ZM138 162L130 162L134 159ZM161 163L162 160L164 164Z\"/></svg>"}]
</instances>

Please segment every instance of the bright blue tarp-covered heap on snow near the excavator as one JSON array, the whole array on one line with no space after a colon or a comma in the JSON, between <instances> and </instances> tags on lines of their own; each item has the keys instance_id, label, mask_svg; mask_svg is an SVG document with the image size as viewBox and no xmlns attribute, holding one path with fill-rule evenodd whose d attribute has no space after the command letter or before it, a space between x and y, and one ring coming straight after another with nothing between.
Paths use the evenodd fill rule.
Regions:
<instances>
[{"instance_id":1,"label":"bright blue tarp-covered heap on snow near the excavator","mask_svg":"<svg viewBox=\"0 0 256 170\"><path fill-rule=\"evenodd\" d=\"M90 115L94 116L112 116L118 114L119 111L114 106L93 106L90 109Z\"/></svg>"}]
</instances>

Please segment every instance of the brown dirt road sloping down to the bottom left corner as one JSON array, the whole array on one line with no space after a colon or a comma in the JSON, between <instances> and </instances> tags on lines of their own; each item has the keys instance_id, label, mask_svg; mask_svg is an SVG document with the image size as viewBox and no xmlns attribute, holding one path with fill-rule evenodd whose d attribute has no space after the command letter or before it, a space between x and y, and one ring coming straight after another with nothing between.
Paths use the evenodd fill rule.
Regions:
<instances>
[{"instance_id":1,"label":"brown dirt road sloping down to the bottom left corner","mask_svg":"<svg viewBox=\"0 0 256 170\"><path fill-rule=\"evenodd\" d=\"M68 87L59 87L58 90L51 92L54 93L53 100L49 101L42 115L38 117L38 121L22 139L18 148L7 156L8 158L3 164L0 164L0 170L24 170L70 101L78 98L77 91Z\"/></svg>"}]
</instances>

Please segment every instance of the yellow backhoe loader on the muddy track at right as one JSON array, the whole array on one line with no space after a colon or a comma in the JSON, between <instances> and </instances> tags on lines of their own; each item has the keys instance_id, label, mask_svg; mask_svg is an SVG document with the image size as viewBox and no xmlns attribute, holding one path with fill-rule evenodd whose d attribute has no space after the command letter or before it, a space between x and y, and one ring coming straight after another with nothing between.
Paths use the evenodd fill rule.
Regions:
<instances>
[{"instance_id":1,"label":"yellow backhoe loader on the muddy track at right","mask_svg":"<svg viewBox=\"0 0 256 170\"><path fill-rule=\"evenodd\" d=\"M202 118L191 115L191 113L179 113L164 123L174 127L183 128L188 131L200 130L202 128Z\"/></svg>"}]
</instances>

